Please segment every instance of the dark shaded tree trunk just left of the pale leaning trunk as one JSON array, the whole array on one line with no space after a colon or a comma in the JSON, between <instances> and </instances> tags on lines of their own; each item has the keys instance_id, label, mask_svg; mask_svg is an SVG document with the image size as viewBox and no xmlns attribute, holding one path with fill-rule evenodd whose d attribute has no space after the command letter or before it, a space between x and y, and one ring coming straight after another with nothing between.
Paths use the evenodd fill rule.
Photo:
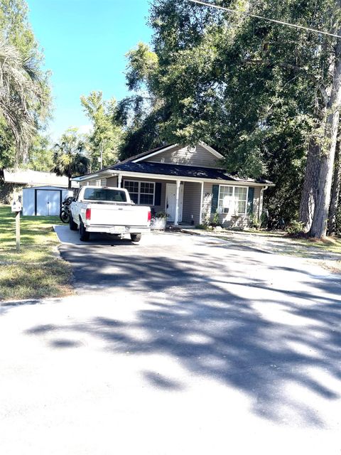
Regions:
<instances>
[{"instance_id":1,"label":"dark shaded tree trunk just left of the pale leaning trunk","mask_svg":"<svg viewBox=\"0 0 341 455\"><path fill-rule=\"evenodd\" d=\"M320 147L315 137L309 140L307 164L300 205L300 221L304 223L305 232L309 232L318 196L318 176L320 171Z\"/></svg>"}]
</instances>

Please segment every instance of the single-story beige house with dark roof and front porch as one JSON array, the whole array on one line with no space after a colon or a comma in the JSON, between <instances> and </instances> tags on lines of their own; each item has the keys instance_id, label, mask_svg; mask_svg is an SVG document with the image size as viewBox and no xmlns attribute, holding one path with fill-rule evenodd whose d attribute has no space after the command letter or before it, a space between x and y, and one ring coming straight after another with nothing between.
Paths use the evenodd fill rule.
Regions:
<instances>
[{"instance_id":1,"label":"single-story beige house with dark roof and front porch","mask_svg":"<svg viewBox=\"0 0 341 455\"><path fill-rule=\"evenodd\" d=\"M218 213L223 225L247 227L251 214L259 218L263 192L274 183L233 176L222 168L222 159L203 142L171 144L73 180L126 188L134 203L165 211L174 225L202 224Z\"/></svg>"}]
</instances>

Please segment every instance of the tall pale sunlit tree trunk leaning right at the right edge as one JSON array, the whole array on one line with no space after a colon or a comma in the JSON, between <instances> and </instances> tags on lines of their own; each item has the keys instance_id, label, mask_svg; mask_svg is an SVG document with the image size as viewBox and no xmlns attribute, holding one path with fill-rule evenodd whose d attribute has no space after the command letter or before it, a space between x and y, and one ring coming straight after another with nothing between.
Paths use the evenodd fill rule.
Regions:
<instances>
[{"instance_id":1,"label":"tall pale sunlit tree trunk leaning right at the right edge","mask_svg":"<svg viewBox=\"0 0 341 455\"><path fill-rule=\"evenodd\" d=\"M338 3L338 2L337 2ZM341 34L341 28L338 29ZM337 38L335 46L335 65L332 77L332 91L328 102L328 117L325 123L324 146L321 154L320 173L318 178L318 199L315 206L311 237L325 237L327 232L332 171L334 166L337 129L339 125L341 105L341 38Z\"/></svg>"}]
</instances>

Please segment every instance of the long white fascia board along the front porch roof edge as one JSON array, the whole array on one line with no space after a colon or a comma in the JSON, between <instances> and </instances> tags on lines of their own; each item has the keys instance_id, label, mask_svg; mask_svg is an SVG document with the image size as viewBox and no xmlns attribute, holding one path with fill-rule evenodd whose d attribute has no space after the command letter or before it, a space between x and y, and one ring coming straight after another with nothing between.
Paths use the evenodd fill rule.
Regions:
<instances>
[{"instance_id":1,"label":"long white fascia board along the front porch roof edge","mask_svg":"<svg viewBox=\"0 0 341 455\"><path fill-rule=\"evenodd\" d=\"M247 182L247 181L227 181L227 180L216 180L214 178L200 178L200 177L183 177L183 176L165 176L158 173L142 173L142 172L127 172L127 171L112 171L112 176L118 176L121 174L122 177L135 177L135 178L148 178L153 180L168 180L168 181L177 181L182 182L195 182L195 183L215 183L216 185L229 185L229 186L275 186L274 183L256 183L256 182Z\"/></svg>"}]
</instances>

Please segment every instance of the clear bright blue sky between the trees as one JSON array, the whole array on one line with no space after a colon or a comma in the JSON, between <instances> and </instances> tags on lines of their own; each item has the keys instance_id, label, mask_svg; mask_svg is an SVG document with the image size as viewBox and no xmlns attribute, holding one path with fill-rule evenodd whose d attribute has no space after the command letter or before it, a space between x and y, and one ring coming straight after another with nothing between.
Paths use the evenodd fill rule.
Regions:
<instances>
[{"instance_id":1,"label":"clear bright blue sky between the trees","mask_svg":"<svg viewBox=\"0 0 341 455\"><path fill-rule=\"evenodd\" d=\"M51 139L68 127L85 132L90 122L80 96L102 90L104 98L127 95L124 55L148 43L148 0L27 0L33 32L52 71Z\"/></svg>"}]
</instances>

